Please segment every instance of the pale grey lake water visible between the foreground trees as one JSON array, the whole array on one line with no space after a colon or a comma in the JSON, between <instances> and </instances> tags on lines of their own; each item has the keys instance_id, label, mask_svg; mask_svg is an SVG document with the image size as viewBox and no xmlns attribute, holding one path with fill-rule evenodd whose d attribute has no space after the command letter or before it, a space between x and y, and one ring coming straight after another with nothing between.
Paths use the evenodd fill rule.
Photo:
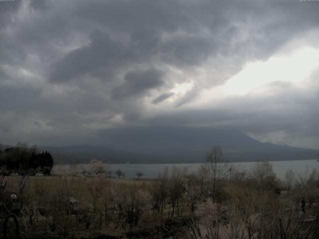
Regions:
<instances>
[{"instance_id":1,"label":"pale grey lake water visible between the foreground trees","mask_svg":"<svg viewBox=\"0 0 319 239\"><path fill-rule=\"evenodd\" d=\"M240 162L232 163L239 170L250 170L255 162ZM296 161L272 161L273 169L277 176L281 179L285 178L287 170L292 169L298 174L308 175L316 168L319 171L319 162L314 160L296 160ZM165 167L186 167L187 172L191 173L198 170L200 163L176 163L176 164L109 164L109 171L112 171L112 176L116 176L115 171L120 169L125 173L126 178L136 178L137 172L143 173L143 178L157 178L159 173ZM297 176L297 175L296 175Z\"/></svg>"}]
</instances>

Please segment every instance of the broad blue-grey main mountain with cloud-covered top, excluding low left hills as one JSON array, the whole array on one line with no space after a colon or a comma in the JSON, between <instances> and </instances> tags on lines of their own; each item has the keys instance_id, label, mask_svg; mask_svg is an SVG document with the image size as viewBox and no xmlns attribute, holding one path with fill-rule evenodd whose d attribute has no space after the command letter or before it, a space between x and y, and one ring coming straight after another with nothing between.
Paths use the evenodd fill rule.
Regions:
<instances>
[{"instance_id":1,"label":"broad blue-grey main mountain with cloud-covered top, excluding low left hills","mask_svg":"<svg viewBox=\"0 0 319 239\"><path fill-rule=\"evenodd\" d=\"M214 145L223 148L229 161L315 159L318 150L262 143L230 129L201 127L112 128L100 135L105 145L156 155L157 160L202 162Z\"/></svg>"}]
</instances>

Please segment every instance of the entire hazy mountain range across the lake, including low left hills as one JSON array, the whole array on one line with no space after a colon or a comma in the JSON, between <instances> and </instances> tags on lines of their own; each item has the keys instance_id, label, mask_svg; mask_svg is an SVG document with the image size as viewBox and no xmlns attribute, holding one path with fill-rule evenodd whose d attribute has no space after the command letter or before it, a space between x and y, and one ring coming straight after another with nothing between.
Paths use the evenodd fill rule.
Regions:
<instances>
[{"instance_id":1,"label":"entire hazy mountain range across the lake, including low left hills","mask_svg":"<svg viewBox=\"0 0 319 239\"><path fill-rule=\"evenodd\" d=\"M104 146L85 144L39 147L49 151L57 163L204 162L214 145L223 148L229 161L316 159L319 150L262 143L245 133L228 129L195 127L130 127L103 131ZM3 145L4 146L8 145ZM1 147L1 145L0 145Z\"/></svg>"}]
</instances>

